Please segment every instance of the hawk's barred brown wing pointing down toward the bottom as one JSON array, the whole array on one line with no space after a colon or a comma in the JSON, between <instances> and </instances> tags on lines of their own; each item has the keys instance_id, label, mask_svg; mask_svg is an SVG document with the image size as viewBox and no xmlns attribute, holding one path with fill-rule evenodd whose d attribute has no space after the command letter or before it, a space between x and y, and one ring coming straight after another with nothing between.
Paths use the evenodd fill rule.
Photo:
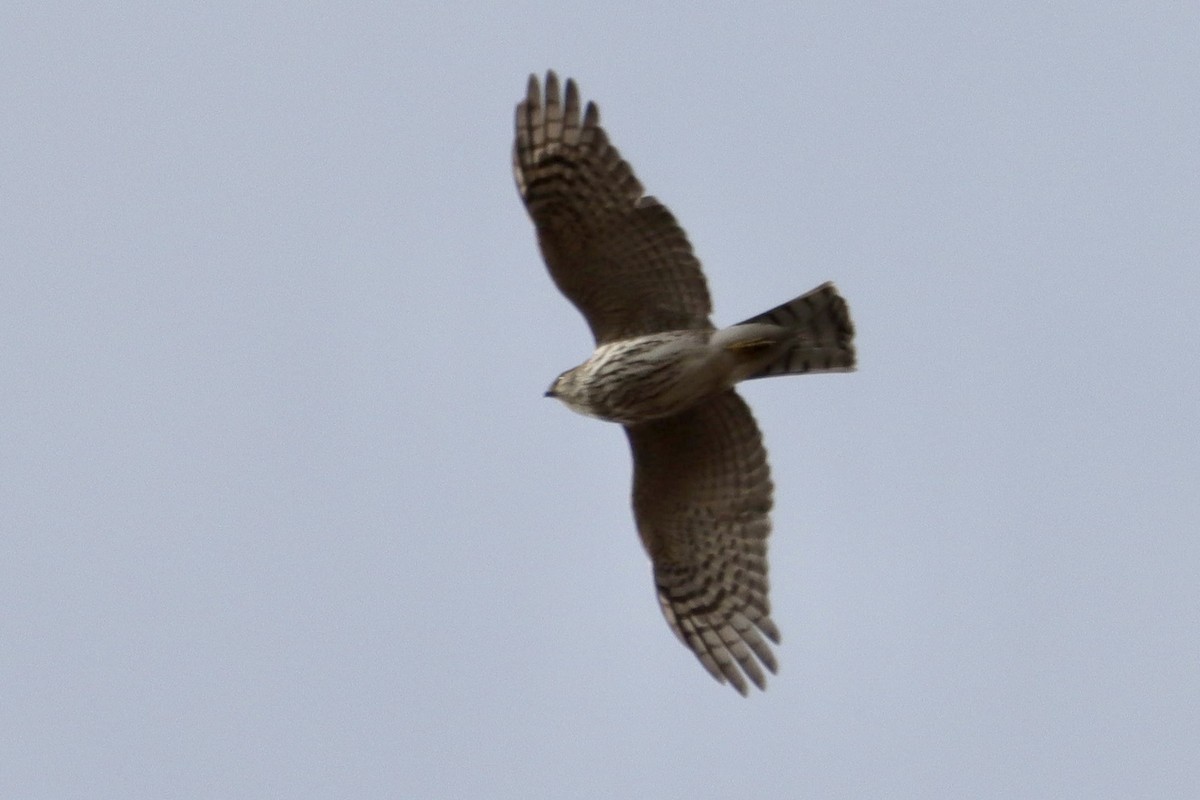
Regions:
<instances>
[{"instance_id":1,"label":"hawk's barred brown wing pointing down toward the bottom","mask_svg":"<svg viewBox=\"0 0 1200 800\"><path fill-rule=\"evenodd\" d=\"M733 391L625 428L634 450L634 515L676 634L743 694L775 672L767 599L770 470L750 409ZM757 660L756 660L757 658Z\"/></svg>"}]
</instances>

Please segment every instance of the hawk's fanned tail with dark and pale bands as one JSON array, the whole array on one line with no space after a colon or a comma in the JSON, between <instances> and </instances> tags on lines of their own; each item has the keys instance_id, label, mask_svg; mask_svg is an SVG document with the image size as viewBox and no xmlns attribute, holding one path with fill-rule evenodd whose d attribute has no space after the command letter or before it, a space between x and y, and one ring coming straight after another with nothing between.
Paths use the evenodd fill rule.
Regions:
<instances>
[{"instance_id":1,"label":"hawk's fanned tail with dark and pale bands","mask_svg":"<svg viewBox=\"0 0 1200 800\"><path fill-rule=\"evenodd\" d=\"M779 355L746 380L805 372L850 372L854 368L854 324L833 283L788 300L740 325L763 323L787 329L792 338Z\"/></svg>"}]
</instances>

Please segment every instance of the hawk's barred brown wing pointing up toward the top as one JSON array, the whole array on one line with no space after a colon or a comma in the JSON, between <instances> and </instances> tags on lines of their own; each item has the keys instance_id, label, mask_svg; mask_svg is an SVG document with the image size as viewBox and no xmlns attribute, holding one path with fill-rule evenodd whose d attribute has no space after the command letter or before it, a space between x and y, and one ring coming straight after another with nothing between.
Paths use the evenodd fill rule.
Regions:
<instances>
[{"instance_id":1,"label":"hawk's barred brown wing pointing up toward the top","mask_svg":"<svg viewBox=\"0 0 1200 800\"><path fill-rule=\"evenodd\" d=\"M512 170L559 290L583 313L596 344L665 330L712 327L700 261L674 217L652 197L580 94L546 73L545 100L529 76L517 104Z\"/></svg>"}]
</instances>

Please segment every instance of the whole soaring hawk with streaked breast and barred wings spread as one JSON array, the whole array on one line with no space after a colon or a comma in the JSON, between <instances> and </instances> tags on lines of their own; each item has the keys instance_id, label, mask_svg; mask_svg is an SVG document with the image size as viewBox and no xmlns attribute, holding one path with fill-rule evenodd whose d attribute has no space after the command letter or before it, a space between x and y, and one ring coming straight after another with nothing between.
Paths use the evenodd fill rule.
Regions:
<instances>
[{"instance_id":1,"label":"whole soaring hawk with streaked breast and barred wings spread","mask_svg":"<svg viewBox=\"0 0 1200 800\"><path fill-rule=\"evenodd\" d=\"M712 302L688 236L647 197L568 80L529 77L516 108L514 174L541 254L595 338L546 392L625 428L634 517L671 628L743 696L774 673L767 536L772 481L734 384L854 368L854 327L832 283L737 325Z\"/></svg>"}]
</instances>

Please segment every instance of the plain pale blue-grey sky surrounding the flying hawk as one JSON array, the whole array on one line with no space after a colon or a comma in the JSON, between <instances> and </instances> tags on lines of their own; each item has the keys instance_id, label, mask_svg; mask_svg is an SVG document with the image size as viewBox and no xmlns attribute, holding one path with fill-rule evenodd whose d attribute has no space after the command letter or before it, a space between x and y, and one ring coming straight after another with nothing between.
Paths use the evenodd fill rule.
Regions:
<instances>
[{"instance_id":1,"label":"plain pale blue-grey sky surrounding the flying hawk","mask_svg":"<svg viewBox=\"0 0 1200 800\"><path fill-rule=\"evenodd\" d=\"M1200 8L997 5L6 4L0 796L1193 796ZM719 323L851 303L764 694L541 397L547 67Z\"/></svg>"}]
</instances>

